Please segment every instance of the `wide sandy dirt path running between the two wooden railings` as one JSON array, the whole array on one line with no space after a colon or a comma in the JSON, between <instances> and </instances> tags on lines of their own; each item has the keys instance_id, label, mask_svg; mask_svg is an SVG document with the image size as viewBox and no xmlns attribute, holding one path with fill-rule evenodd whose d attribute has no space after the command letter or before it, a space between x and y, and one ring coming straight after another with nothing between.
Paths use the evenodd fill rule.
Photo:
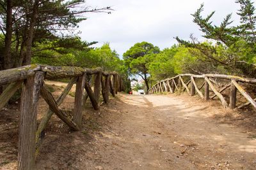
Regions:
<instances>
[{"instance_id":1,"label":"wide sandy dirt path running between the two wooden railings","mask_svg":"<svg viewBox=\"0 0 256 170\"><path fill-rule=\"evenodd\" d=\"M39 160L38 168L43 164L45 169L256 168L256 140L239 127L218 124L212 115L221 108L209 111L207 103L196 104L196 98L185 103L186 97L178 96L119 98L100 111L106 114L104 127L89 141L88 136L77 137L78 133L66 141L76 145L72 146L75 154L52 143L52 150L57 150ZM72 161L65 160L67 154Z\"/></svg>"}]
</instances>

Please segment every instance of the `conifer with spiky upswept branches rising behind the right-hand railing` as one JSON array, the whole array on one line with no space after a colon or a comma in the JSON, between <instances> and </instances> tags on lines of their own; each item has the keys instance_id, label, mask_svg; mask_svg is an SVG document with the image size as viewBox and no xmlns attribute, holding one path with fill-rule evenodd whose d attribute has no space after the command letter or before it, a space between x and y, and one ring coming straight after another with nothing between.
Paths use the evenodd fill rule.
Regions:
<instances>
[{"instance_id":1,"label":"conifer with spiky upswept branches rising behind the right-hand railing","mask_svg":"<svg viewBox=\"0 0 256 170\"><path fill-rule=\"evenodd\" d=\"M180 44L190 49L195 48L200 52L197 57L198 60L205 63L205 66L209 66L204 67L203 73L212 72L214 70L212 68L215 67L215 73L225 70L230 74L245 76L256 74L255 7L252 0L237 0L236 3L240 4L237 15L240 16L241 24L231 26L232 15L228 14L220 25L213 25L211 18L214 11L207 17L202 17L204 10L204 4L202 4L192 14L193 22L200 27L200 31L204 33L204 38L209 39L209 41L201 43L193 35L191 35L191 41L176 38ZM202 64L202 66L204 65ZM196 71L200 72L199 70Z\"/></svg>"}]
</instances>

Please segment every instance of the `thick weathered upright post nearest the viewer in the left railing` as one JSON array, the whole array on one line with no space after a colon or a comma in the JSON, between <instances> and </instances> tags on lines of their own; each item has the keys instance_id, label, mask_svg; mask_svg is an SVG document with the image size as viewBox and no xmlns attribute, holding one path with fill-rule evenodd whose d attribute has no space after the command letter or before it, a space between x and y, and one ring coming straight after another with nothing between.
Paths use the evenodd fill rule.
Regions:
<instances>
[{"instance_id":1,"label":"thick weathered upright post nearest the viewer in the left railing","mask_svg":"<svg viewBox=\"0 0 256 170\"><path fill-rule=\"evenodd\" d=\"M44 73L24 80L20 101L18 169L34 169L36 151L36 108Z\"/></svg>"}]
</instances>

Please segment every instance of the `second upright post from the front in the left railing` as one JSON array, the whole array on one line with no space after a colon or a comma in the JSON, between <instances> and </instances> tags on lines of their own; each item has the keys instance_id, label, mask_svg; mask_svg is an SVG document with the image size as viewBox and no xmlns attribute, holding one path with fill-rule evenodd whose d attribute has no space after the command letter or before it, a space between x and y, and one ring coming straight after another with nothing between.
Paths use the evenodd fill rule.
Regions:
<instances>
[{"instance_id":1,"label":"second upright post from the front in the left railing","mask_svg":"<svg viewBox=\"0 0 256 170\"><path fill-rule=\"evenodd\" d=\"M83 76L79 76L76 83L76 96L75 96L73 120L79 128L82 127L83 94L84 94L85 81L86 81L86 73L84 73Z\"/></svg>"}]
</instances>

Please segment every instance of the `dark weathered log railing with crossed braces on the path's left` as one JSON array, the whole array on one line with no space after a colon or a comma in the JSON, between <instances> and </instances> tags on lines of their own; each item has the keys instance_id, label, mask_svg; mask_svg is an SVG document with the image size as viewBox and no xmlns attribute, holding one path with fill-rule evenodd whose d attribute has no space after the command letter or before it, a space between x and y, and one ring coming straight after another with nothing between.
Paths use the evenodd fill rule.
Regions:
<instances>
[{"instance_id":1,"label":"dark weathered log railing with crossed braces on the path's left","mask_svg":"<svg viewBox=\"0 0 256 170\"><path fill-rule=\"evenodd\" d=\"M94 87L90 85L93 77ZM67 87L57 100L47 89L44 80L71 78ZM60 105L67 96L72 86L76 83L74 113L69 115L62 110ZM73 131L79 131L82 125L83 105L89 97L95 110L99 110L100 91L104 103L109 102L109 92L113 97L123 90L123 81L115 72L105 72L102 69L83 69L81 67L54 67L30 65L0 71L0 86L5 85L0 96L0 110L8 103L13 94L22 87L20 101L19 124L19 152L18 169L34 169L35 157L45 134L52 115L55 113ZM84 92L84 89L86 92ZM42 118L36 128L36 107L39 95L49 105L49 111Z\"/></svg>"}]
</instances>

